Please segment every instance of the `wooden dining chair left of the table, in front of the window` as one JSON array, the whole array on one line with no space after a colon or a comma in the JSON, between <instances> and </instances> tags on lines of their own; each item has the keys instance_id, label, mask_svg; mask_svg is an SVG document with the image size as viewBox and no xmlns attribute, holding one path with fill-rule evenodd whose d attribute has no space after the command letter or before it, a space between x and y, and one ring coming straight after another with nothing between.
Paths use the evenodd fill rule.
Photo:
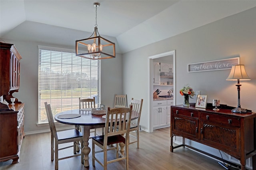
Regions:
<instances>
[{"instance_id":1,"label":"wooden dining chair left of the table, in front of the window","mask_svg":"<svg viewBox=\"0 0 256 170\"><path fill-rule=\"evenodd\" d=\"M63 160L63 159L67 159L67 158L72 158L75 156L81 156L81 162L83 162L84 158L83 158L83 154L82 154L82 148L83 146L83 142L81 142L81 146L78 145L79 141L83 141L83 134L81 132L79 132L76 129L71 129L71 130L63 130L60 132L56 131L56 127L54 124L54 119L52 116L52 109L50 104L47 104L47 102L44 102L44 106L46 109L46 114L47 114L47 118L48 118L48 122L50 125L50 130L51 130L51 160L55 159L55 170L58 170L58 161L59 160ZM72 146L66 146L64 148L58 148L59 144L64 144L64 143L70 143L73 142ZM77 154L76 153L76 145L80 148L81 153ZM58 158L58 151L59 150L63 150L66 148L71 148L73 147L73 151L74 151L74 155L71 156L66 156L66 157L62 157L62 158ZM55 153L55 156L54 156Z\"/></svg>"}]
</instances>

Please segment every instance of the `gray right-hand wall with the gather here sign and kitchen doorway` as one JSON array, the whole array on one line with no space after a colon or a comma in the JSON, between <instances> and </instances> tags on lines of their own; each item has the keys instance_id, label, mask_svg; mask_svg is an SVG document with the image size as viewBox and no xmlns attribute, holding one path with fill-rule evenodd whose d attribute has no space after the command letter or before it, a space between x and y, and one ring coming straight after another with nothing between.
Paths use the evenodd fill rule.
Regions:
<instances>
[{"instance_id":1,"label":"gray right-hand wall with the gather here sign and kitchen doorway","mask_svg":"<svg viewBox=\"0 0 256 170\"><path fill-rule=\"evenodd\" d=\"M188 73L187 65L232 58L240 55L250 81L241 81L242 108L256 112L256 8L212 22L194 30L138 48L123 55L124 93L129 98L143 98L140 125L148 129L148 57L176 50L176 104L183 104L179 90L185 84L202 95L207 102L220 99L221 104L237 106L237 82L226 81L230 70ZM172 28L170 28L172 29ZM157 30L156 30L157 31ZM150 35L149 35L150 36ZM134 90L136 88L136 90ZM190 100L196 102L196 99Z\"/></svg>"}]
</instances>

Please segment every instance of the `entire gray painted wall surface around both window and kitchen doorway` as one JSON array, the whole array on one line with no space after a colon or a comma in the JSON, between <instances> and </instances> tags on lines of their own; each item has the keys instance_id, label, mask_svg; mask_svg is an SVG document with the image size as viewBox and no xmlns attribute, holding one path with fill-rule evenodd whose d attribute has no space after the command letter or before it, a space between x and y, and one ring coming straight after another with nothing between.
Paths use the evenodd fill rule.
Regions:
<instances>
[{"instance_id":1,"label":"entire gray painted wall surface around both window and kitchen doorway","mask_svg":"<svg viewBox=\"0 0 256 170\"><path fill-rule=\"evenodd\" d=\"M252 80L241 82L241 105L256 112L256 8L212 22L200 28L138 48L126 54L117 54L115 59L102 60L102 103L113 106L114 94L128 94L130 98L143 98L142 128L148 129L148 56L176 50L176 104L183 98L178 90L190 84L194 90L208 95L207 101L220 99L222 104L237 105L236 82L226 81L230 70L188 73L187 64L220 60L240 55ZM172 29L172 28L170 28ZM49 31L50 28L49 28ZM68 31L65 28L65 31ZM156 30L157 31L157 30ZM70 31L74 32L74 30ZM150 35L149 35L150 36ZM37 126L38 122L38 45L60 48L74 47L46 43L43 40L21 41L5 39L15 44L22 56L20 90L14 93L25 103L25 132L48 130ZM30 38L31 39L31 38ZM195 102L195 99L191 100Z\"/></svg>"}]
</instances>

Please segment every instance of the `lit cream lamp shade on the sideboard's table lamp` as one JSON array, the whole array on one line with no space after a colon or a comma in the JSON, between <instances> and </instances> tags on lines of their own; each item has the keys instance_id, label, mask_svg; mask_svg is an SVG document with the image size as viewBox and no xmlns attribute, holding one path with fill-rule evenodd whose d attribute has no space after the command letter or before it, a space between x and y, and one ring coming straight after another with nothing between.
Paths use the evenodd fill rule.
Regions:
<instances>
[{"instance_id":1,"label":"lit cream lamp shade on the sideboard's table lamp","mask_svg":"<svg viewBox=\"0 0 256 170\"><path fill-rule=\"evenodd\" d=\"M232 66L230 74L226 80L236 81L236 80L251 80L247 75L244 64L238 64Z\"/></svg>"}]
</instances>

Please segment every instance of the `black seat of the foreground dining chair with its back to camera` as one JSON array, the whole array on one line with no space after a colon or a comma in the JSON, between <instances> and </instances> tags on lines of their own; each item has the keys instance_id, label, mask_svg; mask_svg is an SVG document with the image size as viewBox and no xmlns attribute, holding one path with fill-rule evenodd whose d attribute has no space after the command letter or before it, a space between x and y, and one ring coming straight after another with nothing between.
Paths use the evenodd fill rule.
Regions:
<instances>
[{"instance_id":1,"label":"black seat of the foreground dining chair with its back to camera","mask_svg":"<svg viewBox=\"0 0 256 170\"><path fill-rule=\"evenodd\" d=\"M98 142L99 144L101 144L103 146L104 135L92 137L92 140L95 140L96 142ZM125 144L125 138L120 134L114 135L114 136L108 136L107 145L112 145L112 144L121 143L121 142L123 142Z\"/></svg>"}]
</instances>

